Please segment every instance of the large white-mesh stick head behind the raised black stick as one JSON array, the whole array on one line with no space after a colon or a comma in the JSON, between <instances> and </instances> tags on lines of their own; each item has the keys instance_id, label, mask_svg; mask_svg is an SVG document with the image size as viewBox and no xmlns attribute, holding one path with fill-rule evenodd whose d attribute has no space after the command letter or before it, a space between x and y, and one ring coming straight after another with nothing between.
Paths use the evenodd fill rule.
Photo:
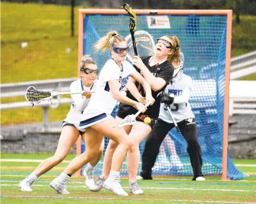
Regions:
<instances>
[{"instance_id":1,"label":"large white-mesh stick head behind the raised black stick","mask_svg":"<svg viewBox=\"0 0 256 204\"><path fill-rule=\"evenodd\" d=\"M144 30L138 30L134 33L134 38L136 41L136 49L140 56L150 56L153 54L155 48L155 42L153 41L152 36ZM126 36L127 45L130 48L130 51L127 53L127 58L130 62L133 62L135 56L134 50L132 49L132 35Z\"/></svg>"}]
</instances>

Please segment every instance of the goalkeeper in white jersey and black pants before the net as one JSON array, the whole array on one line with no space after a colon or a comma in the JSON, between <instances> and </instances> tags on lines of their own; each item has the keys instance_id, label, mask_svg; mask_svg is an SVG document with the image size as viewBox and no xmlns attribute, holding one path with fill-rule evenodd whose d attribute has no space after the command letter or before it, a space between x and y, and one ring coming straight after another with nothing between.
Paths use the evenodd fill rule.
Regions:
<instances>
[{"instance_id":1,"label":"goalkeeper in white jersey and black pants before the net","mask_svg":"<svg viewBox=\"0 0 256 204\"><path fill-rule=\"evenodd\" d=\"M164 137L174 127L173 120L167 111L169 106L176 120L181 134L187 141L187 153L193 168L192 180L205 180L202 174L201 148L198 143L197 126L195 116L189 105L189 96L192 90L192 79L183 74L184 57L181 54L181 64L173 64L175 67L173 79L167 85L165 93L161 96L160 115L157 125L147 136L143 151L143 165L140 173L141 179L152 179L152 167L157 159L159 148Z\"/></svg>"}]
</instances>

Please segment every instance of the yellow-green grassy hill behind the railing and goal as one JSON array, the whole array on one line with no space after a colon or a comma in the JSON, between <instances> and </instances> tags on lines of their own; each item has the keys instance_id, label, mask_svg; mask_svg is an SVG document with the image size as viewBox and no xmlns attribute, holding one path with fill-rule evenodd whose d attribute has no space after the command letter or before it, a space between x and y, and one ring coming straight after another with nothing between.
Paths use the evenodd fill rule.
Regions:
<instances>
[{"instance_id":1,"label":"yellow-green grassy hill behind the railing and goal","mask_svg":"<svg viewBox=\"0 0 256 204\"><path fill-rule=\"evenodd\" d=\"M255 49L255 30L256 16L241 16L240 25L233 23L232 56ZM77 31L78 7L71 38L69 6L1 2L1 84L76 76ZM22 42L29 45L22 49ZM68 48L70 53L66 53ZM256 80L256 74L246 79ZM24 97L2 102L21 100ZM69 105L51 109L50 120L62 120L68 110ZM41 108L1 112L1 124L32 120L42 121Z\"/></svg>"}]
</instances>

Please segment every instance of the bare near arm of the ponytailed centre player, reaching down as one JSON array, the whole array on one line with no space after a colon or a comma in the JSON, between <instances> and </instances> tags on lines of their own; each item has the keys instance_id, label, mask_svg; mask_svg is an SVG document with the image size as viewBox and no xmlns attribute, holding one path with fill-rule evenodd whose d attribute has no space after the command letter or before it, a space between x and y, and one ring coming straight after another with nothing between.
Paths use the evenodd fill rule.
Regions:
<instances>
[{"instance_id":1,"label":"bare near arm of the ponytailed centre player, reaching down","mask_svg":"<svg viewBox=\"0 0 256 204\"><path fill-rule=\"evenodd\" d=\"M108 83L113 99L118 100L124 104L132 105L133 107L136 107L137 110L141 110L144 107L143 104L129 99L129 97L124 96L124 94L120 92L118 80L108 81Z\"/></svg>"}]
</instances>

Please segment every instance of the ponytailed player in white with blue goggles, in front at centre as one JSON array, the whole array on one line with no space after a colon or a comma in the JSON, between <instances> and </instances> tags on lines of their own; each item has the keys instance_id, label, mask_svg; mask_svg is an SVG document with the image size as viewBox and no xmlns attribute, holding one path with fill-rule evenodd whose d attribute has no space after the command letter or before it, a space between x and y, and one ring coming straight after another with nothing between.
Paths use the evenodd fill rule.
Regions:
<instances>
[{"instance_id":1,"label":"ponytailed player in white with blue goggles, in front at centre","mask_svg":"<svg viewBox=\"0 0 256 204\"><path fill-rule=\"evenodd\" d=\"M106 136L118 143L113 155L109 177L110 190L120 196L128 196L120 185L120 169L132 141L123 128L118 128L119 122L113 119L110 114L115 108L116 100L132 105L137 110L144 110L143 104L129 99L120 92L126 85L129 76L143 85L144 90L146 90L147 101L150 104L153 104L155 99L152 97L149 83L126 61L129 47L123 36L118 35L116 31L110 31L106 36L99 39L95 48L101 52L109 50L112 59L109 59L101 69L99 79L96 82L96 92L92 94L79 125L80 131L86 130L82 136L86 142L86 151L75 157L64 172L50 183L50 186L62 193L62 190L66 189L66 183L70 176L98 155L103 136Z\"/></svg>"}]
</instances>

